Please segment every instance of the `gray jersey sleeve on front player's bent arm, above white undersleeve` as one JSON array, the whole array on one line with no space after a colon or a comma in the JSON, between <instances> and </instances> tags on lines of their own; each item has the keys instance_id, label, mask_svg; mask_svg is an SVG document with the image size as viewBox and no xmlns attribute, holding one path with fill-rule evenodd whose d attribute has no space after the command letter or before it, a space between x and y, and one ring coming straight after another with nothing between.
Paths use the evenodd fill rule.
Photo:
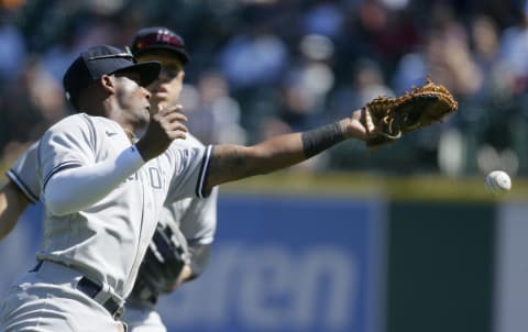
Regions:
<instances>
[{"instance_id":1,"label":"gray jersey sleeve on front player's bent arm, above white undersleeve","mask_svg":"<svg viewBox=\"0 0 528 332\"><path fill-rule=\"evenodd\" d=\"M96 135L84 114L68 117L47 130L38 144L42 191L61 170L95 163Z\"/></svg>"}]
</instances>

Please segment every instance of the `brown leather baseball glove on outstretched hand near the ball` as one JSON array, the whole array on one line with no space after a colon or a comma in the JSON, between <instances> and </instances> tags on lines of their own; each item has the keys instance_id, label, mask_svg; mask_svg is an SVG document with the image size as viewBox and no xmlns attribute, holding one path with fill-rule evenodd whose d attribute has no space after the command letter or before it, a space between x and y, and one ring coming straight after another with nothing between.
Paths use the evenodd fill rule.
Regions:
<instances>
[{"instance_id":1,"label":"brown leather baseball glove on outstretched hand near the ball","mask_svg":"<svg viewBox=\"0 0 528 332\"><path fill-rule=\"evenodd\" d=\"M398 140L404 133L441 122L457 109L451 92L427 78L424 86L396 98L381 96L365 104L361 121L367 132L365 143L376 148Z\"/></svg>"}]
</instances>

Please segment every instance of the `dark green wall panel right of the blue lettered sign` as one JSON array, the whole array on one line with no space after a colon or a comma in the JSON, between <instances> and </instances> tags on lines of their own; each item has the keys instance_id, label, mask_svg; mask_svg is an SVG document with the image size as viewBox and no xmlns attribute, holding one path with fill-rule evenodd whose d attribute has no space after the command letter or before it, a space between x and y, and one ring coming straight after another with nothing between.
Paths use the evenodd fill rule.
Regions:
<instances>
[{"instance_id":1,"label":"dark green wall panel right of the blue lettered sign","mask_svg":"<svg viewBox=\"0 0 528 332\"><path fill-rule=\"evenodd\" d=\"M492 331L495 207L388 207L387 332Z\"/></svg>"}]
</instances>

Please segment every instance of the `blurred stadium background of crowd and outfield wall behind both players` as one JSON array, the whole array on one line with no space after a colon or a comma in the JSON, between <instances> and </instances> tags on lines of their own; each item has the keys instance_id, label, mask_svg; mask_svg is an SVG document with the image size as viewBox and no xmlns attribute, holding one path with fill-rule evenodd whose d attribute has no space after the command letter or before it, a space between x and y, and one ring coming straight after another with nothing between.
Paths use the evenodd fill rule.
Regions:
<instances>
[{"instance_id":1,"label":"blurred stadium background of crowd and outfield wall behind both players","mask_svg":"<svg viewBox=\"0 0 528 332\"><path fill-rule=\"evenodd\" d=\"M210 268L162 302L170 331L526 331L525 0L1 0L0 169L70 113L81 49L147 25L186 40L182 103L205 143L310 129L428 75L459 100L381 151L342 143L222 187ZM492 169L510 193L484 191ZM41 213L0 243L0 294L32 266Z\"/></svg>"}]
</instances>

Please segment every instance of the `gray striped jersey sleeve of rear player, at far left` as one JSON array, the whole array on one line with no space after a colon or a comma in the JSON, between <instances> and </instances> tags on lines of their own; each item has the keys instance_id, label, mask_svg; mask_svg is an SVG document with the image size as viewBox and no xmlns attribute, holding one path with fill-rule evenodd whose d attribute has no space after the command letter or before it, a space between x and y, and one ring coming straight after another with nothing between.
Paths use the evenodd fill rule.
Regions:
<instances>
[{"instance_id":1,"label":"gray striped jersey sleeve of rear player, at far left","mask_svg":"<svg viewBox=\"0 0 528 332\"><path fill-rule=\"evenodd\" d=\"M41 184L37 168L37 143L33 143L8 169L6 175L22 191L25 198L35 203L41 195Z\"/></svg>"}]
</instances>

